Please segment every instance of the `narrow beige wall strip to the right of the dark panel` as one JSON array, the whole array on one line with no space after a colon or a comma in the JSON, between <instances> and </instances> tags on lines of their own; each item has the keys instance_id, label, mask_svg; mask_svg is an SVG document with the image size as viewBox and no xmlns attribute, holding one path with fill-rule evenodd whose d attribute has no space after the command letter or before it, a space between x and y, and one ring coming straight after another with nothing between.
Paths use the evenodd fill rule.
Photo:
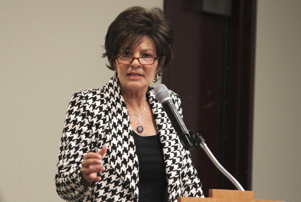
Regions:
<instances>
[{"instance_id":1,"label":"narrow beige wall strip to the right of the dark panel","mask_svg":"<svg viewBox=\"0 0 301 202\"><path fill-rule=\"evenodd\" d=\"M258 0L253 190L301 201L301 1Z\"/></svg>"}]
</instances>

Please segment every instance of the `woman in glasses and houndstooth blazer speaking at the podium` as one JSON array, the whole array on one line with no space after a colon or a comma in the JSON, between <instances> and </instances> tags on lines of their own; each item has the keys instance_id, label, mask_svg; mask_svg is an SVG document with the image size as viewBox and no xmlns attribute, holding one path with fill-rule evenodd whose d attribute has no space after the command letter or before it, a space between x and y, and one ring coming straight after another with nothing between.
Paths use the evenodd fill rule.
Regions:
<instances>
[{"instance_id":1,"label":"woman in glasses and houndstooth blazer speaking at the podium","mask_svg":"<svg viewBox=\"0 0 301 202\"><path fill-rule=\"evenodd\" d=\"M172 59L173 33L159 8L128 8L105 38L114 76L72 96L55 175L69 201L176 201L203 197L189 152L179 143L152 81ZM182 114L177 94L171 92Z\"/></svg>"}]
</instances>

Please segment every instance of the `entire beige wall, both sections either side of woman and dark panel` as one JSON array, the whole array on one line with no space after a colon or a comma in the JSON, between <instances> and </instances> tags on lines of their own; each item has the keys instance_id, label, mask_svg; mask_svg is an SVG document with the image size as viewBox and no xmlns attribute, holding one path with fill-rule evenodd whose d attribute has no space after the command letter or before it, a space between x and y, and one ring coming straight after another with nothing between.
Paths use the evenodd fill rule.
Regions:
<instances>
[{"instance_id":1,"label":"entire beige wall, both sections either side of woman and dark panel","mask_svg":"<svg viewBox=\"0 0 301 202\"><path fill-rule=\"evenodd\" d=\"M103 86L100 56L123 9L163 0L0 1L0 201L63 201L54 175L71 95ZM300 201L301 1L258 0L253 190Z\"/></svg>"}]
</instances>

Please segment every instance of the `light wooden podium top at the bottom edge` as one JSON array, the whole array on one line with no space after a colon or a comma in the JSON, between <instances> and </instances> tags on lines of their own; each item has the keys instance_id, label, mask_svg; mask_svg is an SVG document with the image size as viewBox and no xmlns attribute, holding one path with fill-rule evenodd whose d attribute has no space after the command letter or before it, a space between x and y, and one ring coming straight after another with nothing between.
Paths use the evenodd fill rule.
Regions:
<instances>
[{"instance_id":1,"label":"light wooden podium top at the bottom edge","mask_svg":"<svg viewBox=\"0 0 301 202\"><path fill-rule=\"evenodd\" d=\"M276 202L254 199L254 191L209 189L208 198L178 197L178 202ZM285 201L278 201L285 202Z\"/></svg>"}]
</instances>

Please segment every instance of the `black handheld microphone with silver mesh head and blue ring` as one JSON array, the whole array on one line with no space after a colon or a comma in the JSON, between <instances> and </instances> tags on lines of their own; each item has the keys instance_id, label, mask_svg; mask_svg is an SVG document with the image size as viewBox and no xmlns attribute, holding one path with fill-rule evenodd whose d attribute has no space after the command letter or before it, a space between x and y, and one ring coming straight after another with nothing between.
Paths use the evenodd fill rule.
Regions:
<instances>
[{"instance_id":1,"label":"black handheld microphone with silver mesh head and blue ring","mask_svg":"<svg viewBox=\"0 0 301 202\"><path fill-rule=\"evenodd\" d=\"M160 84L155 86L154 93L156 99L162 104L164 111L172 122L172 126L179 136L180 142L182 143L183 147L188 151L195 149L196 145L192 141L189 131L187 130L179 112L172 102L169 89L167 89L164 84Z\"/></svg>"}]
</instances>

